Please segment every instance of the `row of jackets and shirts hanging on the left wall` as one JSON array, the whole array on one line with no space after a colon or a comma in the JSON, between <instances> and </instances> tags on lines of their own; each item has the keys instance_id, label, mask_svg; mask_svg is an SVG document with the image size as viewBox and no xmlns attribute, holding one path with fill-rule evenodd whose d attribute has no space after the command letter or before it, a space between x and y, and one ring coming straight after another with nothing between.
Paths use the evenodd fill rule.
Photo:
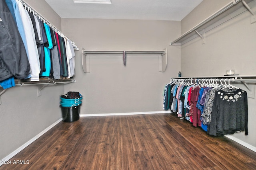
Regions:
<instances>
[{"instance_id":1,"label":"row of jackets and shirts hanging on the left wall","mask_svg":"<svg viewBox=\"0 0 256 170\"><path fill-rule=\"evenodd\" d=\"M14 78L39 81L39 75L54 79L75 74L74 42L60 36L28 12L19 0L0 2L0 84L15 86ZM33 14L32 14L33 12Z\"/></svg>"}]
</instances>

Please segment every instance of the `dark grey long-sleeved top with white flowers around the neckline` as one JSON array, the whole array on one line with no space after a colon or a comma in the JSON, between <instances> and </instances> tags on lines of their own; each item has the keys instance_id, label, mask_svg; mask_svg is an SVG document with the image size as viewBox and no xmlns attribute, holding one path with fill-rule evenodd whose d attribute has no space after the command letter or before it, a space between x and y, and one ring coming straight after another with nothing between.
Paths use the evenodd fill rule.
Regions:
<instances>
[{"instance_id":1,"label":"dark grey long-sleeved top with white flowers around the neckline","mask_svg":"<svg viewBox=\"0 0 256 170\"><path fill-rule=\"evenodd\" d=\"M236 131L245 131L248 135L247 93L241 89L226 89L215 92L212 106L210 135L228 135Z\"/></svg>"}]
</instances>

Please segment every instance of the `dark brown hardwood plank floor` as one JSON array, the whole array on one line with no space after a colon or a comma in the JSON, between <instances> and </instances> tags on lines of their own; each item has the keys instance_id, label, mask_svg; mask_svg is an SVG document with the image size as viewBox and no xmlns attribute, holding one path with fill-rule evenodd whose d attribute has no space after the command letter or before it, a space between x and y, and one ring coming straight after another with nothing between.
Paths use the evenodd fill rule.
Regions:
<instances>
[{"instance_id":1,"label":"dark brown hardwood plank floor","mask_svg":"<svg viewBox=\"0 0 256 170\"><path fill-rule=\"evenodd\" d=\"M60 122L11 161L0 170L255 170L256 152L154 114Z\"/></svg>"}]
</instances>

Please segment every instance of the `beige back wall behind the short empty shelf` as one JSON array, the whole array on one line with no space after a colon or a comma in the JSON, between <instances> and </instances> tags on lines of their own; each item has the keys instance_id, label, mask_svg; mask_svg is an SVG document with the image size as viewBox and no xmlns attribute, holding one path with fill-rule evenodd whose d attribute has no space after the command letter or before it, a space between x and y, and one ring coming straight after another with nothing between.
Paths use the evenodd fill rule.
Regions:
<instances>
[{"instance_id":1,"label":"beige back wall behind the short empty shelf","mask_svg":"<svg viewBox=\"0 0 256 170\"><path fill-rule=\"evenodd\" d=\"M180 47L170 47L180 35L180 21L62 19L62 30L76 42L75 84L65 91L83 96L81 114L162 111L162 91L180 69ZM159 72L157 56L90 57L90 73L81 65L86 50L162 50L168 48L166 72Z\"/></svg>"}]
</instances>

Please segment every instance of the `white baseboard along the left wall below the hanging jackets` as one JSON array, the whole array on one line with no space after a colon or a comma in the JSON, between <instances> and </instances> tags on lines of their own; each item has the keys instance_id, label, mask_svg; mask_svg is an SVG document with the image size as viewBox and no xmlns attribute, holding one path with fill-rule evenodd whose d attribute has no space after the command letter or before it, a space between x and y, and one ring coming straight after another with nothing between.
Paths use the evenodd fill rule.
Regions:
<instances>
[{"instance_id":1,"label":"white baseboard along the left wall below the hanging jackets","mask_svg":"<svg viewBox=\"0 0 256 170\"><path fill-rule=\"evenodd\" d=\"M30 145L32 142L36 141L36 139L38 139L40 136L44 135L44 133L46 133L47 131L49 131L50 129L52 129L52 127L54 127L55 125L57 125L58 123L60 123L60 121L62 121L61 119L58 119L56 122L54 122L52 125L50 125L49 127L47 127L46 129L44 129L42 132L40 132L38 135L36 135L35 137L33 137L32 139L30 139L28 142L24 143L21 147L19 147L18 149L14 150L12 153L10 153L8 156L6 156L5 158L3 158L1 160L2 161L6 161L6 160L10 160L13 156L15 156L18 152L22 151L24 148L26 148L28 145ZM1 166L2 164L0 164Z\"/></svg>"}]
</instances>

